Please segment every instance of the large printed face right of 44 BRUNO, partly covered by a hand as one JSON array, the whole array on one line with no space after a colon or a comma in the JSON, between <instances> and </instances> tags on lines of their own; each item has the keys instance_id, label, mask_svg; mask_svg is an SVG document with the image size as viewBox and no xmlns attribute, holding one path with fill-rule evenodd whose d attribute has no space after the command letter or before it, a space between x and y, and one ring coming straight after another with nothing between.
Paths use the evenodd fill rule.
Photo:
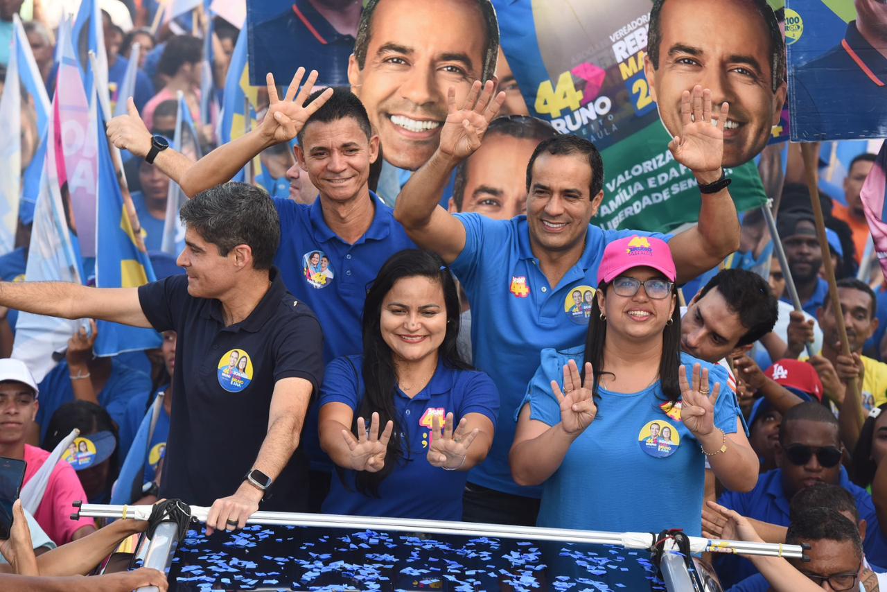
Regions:
<instances>
[{"instance_id":1,"label":"large printed face right of 44 BRUNO, partly covered by a hand","mask_svg":"<svg viewBox=\"0 0 887 592\"><path fill-rule=\"evenodd\" d=\"M784 83L773 91L773 44L764 17L747 2L669 0L658 28L658 62L648 56L644 70L669 133L680 135L681 95L699 84L711 91L713 115L725 101L730 105L724 166L736 167L760 154L780 121L786 96ZM655 39L650 36L651 42Z\"/></svg>"}]
</instances>

